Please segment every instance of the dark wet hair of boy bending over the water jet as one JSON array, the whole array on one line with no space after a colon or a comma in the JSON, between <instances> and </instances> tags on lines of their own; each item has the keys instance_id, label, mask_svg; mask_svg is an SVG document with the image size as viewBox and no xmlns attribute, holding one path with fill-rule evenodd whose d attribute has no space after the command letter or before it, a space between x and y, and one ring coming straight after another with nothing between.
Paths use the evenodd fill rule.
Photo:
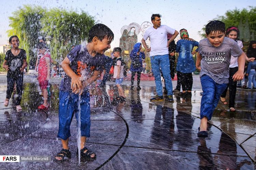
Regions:
<instances>
[{"instance_id":1,"label":"dark wet hair of boy bending over the water jet","mask_svg":"<svg viewBox=\"0 0 256 170\"><path fill-rule=\"evenodd\" d=\"M105 26L102 23L98 23L90 29L88 43L91 43L91 41L93 41L93 37L98 37L100 41L102 41L105 37L113 41L114 33L109 27Z\"/></svg>"}]
</instances>

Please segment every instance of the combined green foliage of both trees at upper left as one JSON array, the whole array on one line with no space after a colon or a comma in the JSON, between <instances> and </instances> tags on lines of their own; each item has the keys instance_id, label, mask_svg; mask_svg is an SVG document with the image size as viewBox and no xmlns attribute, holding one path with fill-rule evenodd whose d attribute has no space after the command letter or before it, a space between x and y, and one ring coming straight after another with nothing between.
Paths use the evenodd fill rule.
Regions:
<instances>
[{"instance_id":1,"label":"combined green foliage of both trees at upper left","mask_svg":"<svg viewBox=\"0 0 256 170\"><path fill-rule=\"evenodd\" d=\"M9 19L12 29L8 30L8 35L19 37L20 48L25 49L28 60L34 62L39 36L49 40L52 58L61 61L72 45L88 38L88 31L95 24L94 18L84 11L45 10L40 6L27 5L16 10Z\"/></svg>"}]
</instances>

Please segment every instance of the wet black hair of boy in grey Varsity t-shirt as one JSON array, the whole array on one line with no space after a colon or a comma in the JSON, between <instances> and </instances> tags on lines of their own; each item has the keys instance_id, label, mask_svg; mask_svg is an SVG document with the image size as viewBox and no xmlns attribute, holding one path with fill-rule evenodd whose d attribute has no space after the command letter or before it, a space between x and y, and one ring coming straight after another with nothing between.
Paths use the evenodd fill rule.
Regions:
<instances>
[{"instance_id":1,"label":"wet black hair of boy in grey Varsity t-shirt","mask_svg":"<svg viewBox=\"0 0 256 170\"><path fill-rule=\"evenodd\" d=\"M214 34L217 32L225 33L225 23L219 20L210 21L205 26L205 34L209 35L211 32L213 32Z\"/></svg>"}]
</instances>

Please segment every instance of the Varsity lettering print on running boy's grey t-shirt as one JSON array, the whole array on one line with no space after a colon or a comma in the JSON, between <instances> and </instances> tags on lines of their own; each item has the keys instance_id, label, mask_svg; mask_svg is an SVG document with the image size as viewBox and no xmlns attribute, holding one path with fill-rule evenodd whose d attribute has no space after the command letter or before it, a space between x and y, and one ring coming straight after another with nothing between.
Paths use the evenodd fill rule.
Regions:
<instances>
[{"instance_id":1,"label":"Varsity lettering print on running boy's grey t-shirt","mask_svg":"<svg viewBox=\"0 0 256 170\"><path fill-rule=\"evenodd\" d=\"M226 52L221 51L221 52L208 52L208 51L203 51L202 55L207 62L207 64L216 64L216 63L223 63L227 61L226 58Z\"/></svg>"}]
</instances>

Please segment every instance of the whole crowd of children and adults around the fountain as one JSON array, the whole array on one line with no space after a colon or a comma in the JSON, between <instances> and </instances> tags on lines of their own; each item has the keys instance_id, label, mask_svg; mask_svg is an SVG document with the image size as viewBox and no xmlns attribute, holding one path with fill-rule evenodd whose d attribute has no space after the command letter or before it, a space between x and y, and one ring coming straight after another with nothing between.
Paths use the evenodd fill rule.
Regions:
<instances>
[{"instance_id":1,"label":"whole crowd of children and adults around the fountain","mask_svg":"<svg viewBox=\"0 0 256 170\"><path fill-rule=\"evenodd\" d=\"M229 108L235 111L234 101L236 96L237 82L245 79L244 89L256 89L255 68L256 68L256 41L251 41L247 50L247 55L243 52L242 41L239 40L239 29L237 27L225 28L222 21L210 21L205 26L207 38L198 43L189 37L186 29L180 32L166 25L161 24L161 15L151 16L153 27L146 30L141 43L134 45L130 52L131 60L131 87L134 89L134 78L137 74L137 90L140 87L141 72L145 72L145 53L150 53L152 73L155 78L157 95L150 101L174 102L173 92L180 92L181 96L191 97L193 86L192 73L198 69L200 71L200 81L202 85L202 99L200 108L201 122L198 128L198 137L207 137L207 122L211 120L213 111L219 100L227 104L226 92L229 89ZM181 39L175 44L174 39L180 34ZM146 40L150 38L150 48ZM90 136L90 98L89 86L99 78L104 72L103 80L100 84L102 89L109 79L109 74L113 66L113 78L118 89L119 97L115 100L126 101L126 96L122 89L122 82L126 73L126 63L122 59L122 49L115 47L111 57L105 56L104 52L110 49L110 44L114 39L114 33L104 24L96 24L89 31L88 44L72 47L67 57L62 61L61 68L65 71L65 76L60 84L59 91L59 131L58 137L62 142L62 149L56 155L56 160L64 160L70 157L68 146L70 134L70 124L75 113L78 117L78 106L81 111L81 143L80 152L82 157L96 158L96 154L85 147L86 138ZM21 111L20 101L23 88L23 70L27 66L26 51L19 49L19 39L17 36L10 37L12 49L6 52L3 68L8 70L8 87L4 106L8 106L14 83L17 86L18 97L16 109ZM198 47L198 48L194 48ZM175 53L178 53L176 71L177 86L173 90L172 78L175 70ZM193 55L197 53L196 63ZM248 62L245 65L245 61ZM43 94L43 104L39 109L47 109L49 79L51 77L51 65L53 61L49 48L45 44L45 39L40 39L38 44L38 56L35 70L38 71L38 81ZM54 66L58 74L58 66ZM161 75L165 81L165 93L163 95ZM246 81L248 79L248 82ZM247 85L248 83L248 85ZM252 87L253 83L253 87ZM245 87L246 86L246 87ZM80 102L79 98L81 98Z\"/></svg>"}]
</instances>

